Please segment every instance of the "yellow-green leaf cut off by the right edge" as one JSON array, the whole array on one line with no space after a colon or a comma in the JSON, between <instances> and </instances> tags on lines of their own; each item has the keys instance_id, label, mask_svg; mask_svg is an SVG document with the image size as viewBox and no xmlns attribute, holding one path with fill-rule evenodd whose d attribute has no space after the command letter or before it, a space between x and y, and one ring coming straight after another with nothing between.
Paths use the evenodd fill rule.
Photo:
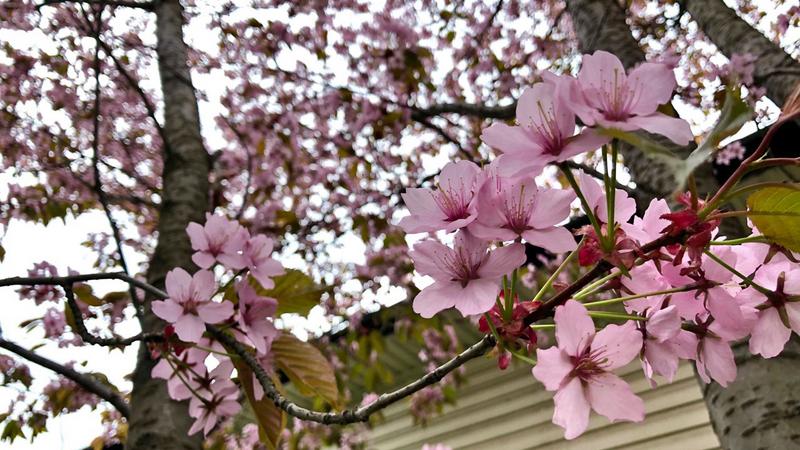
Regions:
<instances>
[{"instance_id":1,"label":"yellow-green leaf cut off by the right edge","mask_svg":"<svg viewBox=\"0 0 800 450\"><path fill-rule=\"evenodd\" d=\"M771 241L800 251L800 191L768 187L747 199L750 220Z\"/></svg>"}]
</instances>

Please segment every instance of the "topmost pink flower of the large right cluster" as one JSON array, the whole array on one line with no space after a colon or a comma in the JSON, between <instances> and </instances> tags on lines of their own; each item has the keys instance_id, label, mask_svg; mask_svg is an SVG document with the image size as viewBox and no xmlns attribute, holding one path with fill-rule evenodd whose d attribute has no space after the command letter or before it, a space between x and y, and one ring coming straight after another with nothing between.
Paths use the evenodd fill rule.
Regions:
<instances>
[{"instance_id":1,"label":"topmost pink flower of the large right cluster","mask_svg":"<svg viewBox=\"0 0 800 450\"><path fill-rule=\"evenodd\" d=\"M670 101L675 85L675 75L665 64L643 63L625 75L616 56L598 50L584 55L577 81L564 83L568 92L563 95L588 126L643 129L686 145L693 139L689 124L657 111Z\"/></svg>"}]
</instances>

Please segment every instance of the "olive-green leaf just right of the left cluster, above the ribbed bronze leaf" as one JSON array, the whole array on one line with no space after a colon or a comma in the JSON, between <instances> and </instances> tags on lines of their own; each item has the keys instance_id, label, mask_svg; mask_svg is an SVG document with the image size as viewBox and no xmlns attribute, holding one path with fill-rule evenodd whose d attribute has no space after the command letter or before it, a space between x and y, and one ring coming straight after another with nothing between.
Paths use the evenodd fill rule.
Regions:
<instances>
[{"instance_id":1,"label":"olive-green leaf just right of the left cluster, above the ribbed bronze leaf","mask_svg":"<svg viewBox=\"0 0 800 450\"><path fill-rule=\"evenodd\" d=\"M308 275L295 269L273 278L275 287L264 289L255 286L259 295L278 300L277 314L296 313L307 315L311 308L319 304L319 299L330 287L320 286Z\"/></svg>"}]
</instances>

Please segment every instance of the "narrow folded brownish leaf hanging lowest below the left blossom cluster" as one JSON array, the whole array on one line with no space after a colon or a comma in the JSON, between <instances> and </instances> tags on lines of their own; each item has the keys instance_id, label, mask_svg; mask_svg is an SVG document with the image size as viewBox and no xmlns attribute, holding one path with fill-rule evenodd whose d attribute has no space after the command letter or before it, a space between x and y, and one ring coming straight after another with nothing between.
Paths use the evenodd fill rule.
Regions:
<instances>
[{"instance_id":1,"label":"narrow folded brownish leaf hanging lowest below the left blossom cluster","mask_svg":"<svg viewBox=\"0 0 800 450\"><path fill-rule=\"evenodd\" d=\"M257 381L253 376L253 371L241 358L232 358L231 361L233 361L236 372L239 374L239 382L247 396L247 401L256 415L261 443L265 444L269 450L277 449L281 433L286 428L286 413L275 406L272 400L266 396L262 397L261 400L256 400L253 383ZM280 391L280 381L273 377L272 382Z\"/></svg>"}]
</instances>

